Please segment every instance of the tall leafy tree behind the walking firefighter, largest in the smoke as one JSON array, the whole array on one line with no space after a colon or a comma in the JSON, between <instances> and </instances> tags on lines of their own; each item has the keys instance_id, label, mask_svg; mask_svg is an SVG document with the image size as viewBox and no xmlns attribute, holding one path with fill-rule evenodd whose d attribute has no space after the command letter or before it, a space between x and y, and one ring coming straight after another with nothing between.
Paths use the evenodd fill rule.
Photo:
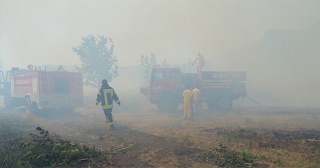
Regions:
<instances>
[{"instance_id":1,"label":"tall leafy tree behind the walking firefighter, largest in the smoke","mask_svg":"<svg viewBox=\"0 0 320 168\"><path fill-rule=\"evenodd\" d=\"M112 81L118 74L117 59L113 55L113 41L110 37L92 34L81 37L81 44L72 47L82 62L84 84L98 88L102 79Z\"/></svg>"}]
</instances>

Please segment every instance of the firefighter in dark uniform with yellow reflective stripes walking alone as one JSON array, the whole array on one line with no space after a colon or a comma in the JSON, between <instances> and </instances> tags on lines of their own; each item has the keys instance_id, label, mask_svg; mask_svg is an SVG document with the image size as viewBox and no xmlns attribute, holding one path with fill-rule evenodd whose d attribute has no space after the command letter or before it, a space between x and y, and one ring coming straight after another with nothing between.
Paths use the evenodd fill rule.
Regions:
<instances>
[{"instance_id":1,"label":"firefighter in dark uniform with yellow reflective stripes walking alone","mask_svg":"<svg viewBox=\"0 0 320 168\"><path fill-rule=\"evenodd\" d=\"M99 92L96 94L96 102L98 105L101 102L101 106L104 112L104 116L106 122L108 123L109 129L114 129L113 119L112 119L112 108L113 108L113 100L120 106L120 99L116 95L114 89L109 86L108 81L103 79L102 86Z\"/></svg>"}]
</instances>

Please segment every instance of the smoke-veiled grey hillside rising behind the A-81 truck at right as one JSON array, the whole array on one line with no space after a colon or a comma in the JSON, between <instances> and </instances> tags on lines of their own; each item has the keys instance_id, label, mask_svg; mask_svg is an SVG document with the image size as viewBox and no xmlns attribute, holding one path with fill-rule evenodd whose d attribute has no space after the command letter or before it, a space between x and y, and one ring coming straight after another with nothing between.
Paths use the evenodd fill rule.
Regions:
<instances>
[{"instance_id":1,"label":"smoke-veiled grey hillside rising behind the A-81 truck at right","mask_svg":"<svg viewBox=\"0 0 320 168\"><path fill-rule=\"evenodd\" d=\"M320 21L308 29L274 29L252 45L234 49L221 70L246 71L248 95L268 105L319 106Z\"/></svg>"}]
</instances>

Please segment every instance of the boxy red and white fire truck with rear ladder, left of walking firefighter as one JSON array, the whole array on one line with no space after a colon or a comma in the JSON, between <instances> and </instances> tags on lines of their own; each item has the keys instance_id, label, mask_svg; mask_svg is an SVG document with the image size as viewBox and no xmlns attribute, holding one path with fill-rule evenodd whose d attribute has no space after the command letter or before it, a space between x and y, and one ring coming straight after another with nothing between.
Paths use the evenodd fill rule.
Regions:
<instances>
[{"instance_id":1,"label":"boxy red and white fire truck with rear ladder, left of walking firefighter","mask_svg":"<svg viewBox=\"0 0 320 168\"><path fill-rule=\"evenodd\" d=\"M23 106L25 111L59 108L73 111L83 104L82 73L58 68L11 68L0 77L0 95L6 107Z\"/></svg>"}]
</instances>

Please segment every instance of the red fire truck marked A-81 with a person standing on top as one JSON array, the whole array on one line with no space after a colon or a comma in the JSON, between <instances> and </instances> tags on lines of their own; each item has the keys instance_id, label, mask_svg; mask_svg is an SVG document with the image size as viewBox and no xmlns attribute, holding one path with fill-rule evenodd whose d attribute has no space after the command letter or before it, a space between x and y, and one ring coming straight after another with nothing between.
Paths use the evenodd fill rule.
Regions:
<instances>
[{"instance_id":1,"label":"red fire truck marked A-81 with a person standing on top","mask_svg":"<svg viewBox=\"0 0 320 168\"><path fill-rule=\"evenodd\" d=\"M176 110L186 86L193 88L197 84L202 101L210 109L228 110L233 100L246 95L243 71L203 71L201 75L199 79L197 73L181 73L177 67L153 67L147 86L140 92L166 111Z\"/></svg>"}]
</instances>

